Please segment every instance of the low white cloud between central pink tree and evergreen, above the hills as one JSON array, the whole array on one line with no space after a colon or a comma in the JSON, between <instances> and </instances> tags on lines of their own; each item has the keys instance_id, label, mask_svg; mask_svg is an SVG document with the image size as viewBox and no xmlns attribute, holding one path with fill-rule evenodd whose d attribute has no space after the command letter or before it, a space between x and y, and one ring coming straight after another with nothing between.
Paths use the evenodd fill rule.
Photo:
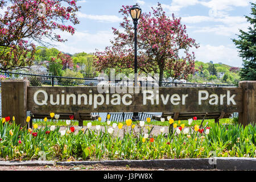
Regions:
<instances>
[{"instance_id":1,"label":"low white cloud between central pink tree and evergreen, above the hills","mask_svg":"<svg viewBox=\"0 0 256 182\"><path fill-rule=\"evenodd\" d=\"M224 63L236 67L241 67L242 59L238 56L238 50L233 46L210 46L200 45L195 52L196 60L213 63Z\"/></svg>"}]
</instances>

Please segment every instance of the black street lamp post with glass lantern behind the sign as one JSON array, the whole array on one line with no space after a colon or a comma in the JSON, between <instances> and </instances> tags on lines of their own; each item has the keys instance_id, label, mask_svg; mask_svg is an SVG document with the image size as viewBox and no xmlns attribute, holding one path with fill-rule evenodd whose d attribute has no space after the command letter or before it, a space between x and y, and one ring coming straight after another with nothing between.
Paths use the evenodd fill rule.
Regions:
<instances>
[{"instance_id":1,"label":"black street lamp post with glass lantern behind the sign","mask_svg":"<svg viewBox=\"0 0 256 182\"><path fill-rule=\"evenodd\" d=\"M137 25L138 20L141 17L141 8L138 4L133 5L130 9L131 18L133 18L134 24L134 86L138 86L137 81ZM133 120L137 121L139 119L139 113L133 113Z\"/></svg>"}]
</instances>

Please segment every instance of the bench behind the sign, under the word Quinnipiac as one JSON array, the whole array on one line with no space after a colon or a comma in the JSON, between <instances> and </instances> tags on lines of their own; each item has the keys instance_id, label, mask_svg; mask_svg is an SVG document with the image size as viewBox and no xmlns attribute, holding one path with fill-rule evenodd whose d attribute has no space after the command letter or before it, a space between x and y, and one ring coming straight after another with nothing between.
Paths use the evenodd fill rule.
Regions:
<instances>
[{"instance_id":1,"label":"bench behind the sign, under the word Quinnipiac","mask_svg":"<svg viewBox=\"0 0 256 182\"><path fill-rule=\"evenodd\" d=\"M70 120L69 116L74 115L74 120L79 121L79 126L83 126L83 121L94 121L100 117L100 115L93 115L92 113L56 113L59 114L59 119ZM51 119L50 114L33 114L30 111L27 112L27 115L31 115L30 127L32 126L32 119L44 119L47 117ZM55 119L54 117L52 119Z\"/></svg>"}]
</instances>

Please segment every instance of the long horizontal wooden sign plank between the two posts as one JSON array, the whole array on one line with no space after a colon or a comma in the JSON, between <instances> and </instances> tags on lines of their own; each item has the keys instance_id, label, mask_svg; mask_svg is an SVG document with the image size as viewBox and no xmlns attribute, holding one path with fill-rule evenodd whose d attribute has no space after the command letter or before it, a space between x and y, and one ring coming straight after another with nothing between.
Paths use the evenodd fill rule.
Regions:
<instances>
[{"instance_id":1,"label":"long horizontal wooden sign plank between the two posts","mask_svg":"<svg viewBox=\"0 0 256 182\"><path fill-rule=\"evenodd\" d=\"M133 88L132 88L133 89ZM38 90L43 90L48 99L47 105L37 105L34 101L34 95ZM99 94L97 87L28 87L27 105L28 110L32 113L88 113L88 112L163 112L163 113L225 113L241 112L242 111L242 89L241 88L158 88L158 93L153 92L154 99L147 97L152 96L147 93L145 88L140 88L139 93L111 93L112 88L105 89L109 93ZM201 100L199 104L199 92L207 92L209 97L207 100ZM144 92L144 93L143 93ZM67 95L69 94L69 95ZM71 95L73 94L73 95ZM85 94L88 102L84 104L84 97L81 97L81 105L79 105L79 94ZM214 94L214 95L213 95ZM225 96L221 102L221 94ZM227 95L233 97L233 102L228 103ZM51 96L52 95L52 96ZM205 94L201 94L202 97ZM216 103L213 101L213 96L217 96ZM56 102L59 97L59 105L50 103L50 98L53 98L52 103ZM106 102L109 97L109 103ZM180 97L180 100L179 100ZM210 98L212 97L212 98ZM63 99L64 98L64 99ZM68 99L67 99L68 98ZM73 104L73 98L75 103ZM172 98L172 100L171 100ZM42 102L45 99L41 92L37 95L36 100ZM97 104L104 100L103 104ZM67 103L69 101L69 104ZM118 101L119 100L119 101ZM211 100L211 101L210 101ZM117 102L118 101L118 102ZM143 103L144 101L144 103ZM157 101L159 103L157 103ZM209 101L211 104L209 104ZM61 104L63 102L64 105ZM127 105L127 102L131 104ZM178 104L177 104L178 103ZM177 105L176 105L177 104Z\"/></svg>"}]
</instances>

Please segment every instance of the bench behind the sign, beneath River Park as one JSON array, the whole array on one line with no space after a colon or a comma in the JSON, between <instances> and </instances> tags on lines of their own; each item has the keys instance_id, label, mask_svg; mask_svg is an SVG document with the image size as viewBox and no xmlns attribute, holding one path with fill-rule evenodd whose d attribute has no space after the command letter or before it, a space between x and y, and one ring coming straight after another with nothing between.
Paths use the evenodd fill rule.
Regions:
<instances>
[{"instance_id":1,"label":"bench behind the sign, beneath River Park","mask_svg":"<svg viewBox=\"0 0 256 182\"><path fill-rule=\"evenodd\" d=\"M222 118L231 117L232 113L162 113L162 115L153 115L152 119L160 121L160 118L165 118L167 121L168 116L171 116L175 121L197 117L197 119L214 119L215 123L218 123Z\"/></svg>"}]
</instances>

